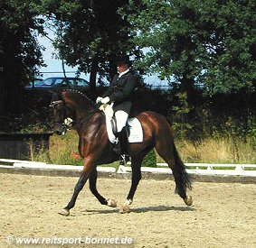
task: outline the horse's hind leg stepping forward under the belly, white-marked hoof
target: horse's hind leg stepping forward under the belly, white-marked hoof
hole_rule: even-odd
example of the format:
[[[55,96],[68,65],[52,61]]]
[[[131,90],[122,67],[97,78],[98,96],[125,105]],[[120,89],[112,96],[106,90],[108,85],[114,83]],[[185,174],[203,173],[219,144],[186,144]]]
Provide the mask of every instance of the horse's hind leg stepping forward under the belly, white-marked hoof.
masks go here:
[[[132,179],[131,179],[131,187],[128,192],[128,197],[125,203],[120,207],[120,214],[128,213],[129,212],[129,205],[132,204],[133,197],[135,195],[137,185],[141,179],[141,162],[147,152],[139,153],[137,156],[131,158],[131,169],[132,169]]]

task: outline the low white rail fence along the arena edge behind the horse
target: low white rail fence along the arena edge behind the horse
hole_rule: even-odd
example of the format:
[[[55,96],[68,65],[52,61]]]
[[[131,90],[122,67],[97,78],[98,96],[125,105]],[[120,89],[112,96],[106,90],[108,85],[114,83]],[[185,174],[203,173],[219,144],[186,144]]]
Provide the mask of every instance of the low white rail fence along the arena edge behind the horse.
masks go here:
[[[3,165],[1,165],[3,164]],[[97,170],[109,173],[130,173],[130,162],[127,166],[119,166],[116,170],[114,167],[98,166]],[[142,172],[148,173],[166,173],[172,174],[172,170],[167,167],[166,163],[156,163],[156,168],[142,167]],[[189,174],[196,175],[223,175],[223,176],[247,176],[256,177],[256,164],[209,164],[209,163],[185,163],[186,171]],[[0,159],[0,169],[8,168],[25,168],[38,170],[82,170],[83,166],[73,165],[56,165],[36,161],[18,161],[9,159]]]

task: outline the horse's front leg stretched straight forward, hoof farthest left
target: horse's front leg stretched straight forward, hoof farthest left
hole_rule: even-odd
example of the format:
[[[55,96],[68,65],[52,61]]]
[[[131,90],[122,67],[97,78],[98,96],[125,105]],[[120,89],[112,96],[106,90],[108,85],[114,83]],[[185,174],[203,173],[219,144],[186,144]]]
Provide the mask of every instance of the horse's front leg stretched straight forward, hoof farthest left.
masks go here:
[[[70,209],[75,206],[76,199],[77,199],[81,189],[85,185],[87,179],[90,177],[90,171],[91,170],[93,170],[93,165],[91,163],[85,163],[85,166],[84,166],[84,168],[81,172],[81,177],[78,180],[78,182],[77,182],[77,184],[74,188],[74,192],[73,192],[73,195],[71,197],[71,201],[69,202],[67,207],[64,207],[59,212],[60,215],[62,215],[62,216],[69,216],[70,215]]]

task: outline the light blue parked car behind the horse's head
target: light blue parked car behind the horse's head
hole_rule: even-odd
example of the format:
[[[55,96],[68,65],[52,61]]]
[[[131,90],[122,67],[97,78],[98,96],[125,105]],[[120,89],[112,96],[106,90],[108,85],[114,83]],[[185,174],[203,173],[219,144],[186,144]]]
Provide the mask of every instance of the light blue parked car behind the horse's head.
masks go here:
[[[42,82],[25,87],[27,89],[35,88],[42,90],[54,90],[54,89],[65,89],[73,88],[78,90],[89,89],[89,82],[83,78],[64,78],[64,77],[53,77],[46,78]]]

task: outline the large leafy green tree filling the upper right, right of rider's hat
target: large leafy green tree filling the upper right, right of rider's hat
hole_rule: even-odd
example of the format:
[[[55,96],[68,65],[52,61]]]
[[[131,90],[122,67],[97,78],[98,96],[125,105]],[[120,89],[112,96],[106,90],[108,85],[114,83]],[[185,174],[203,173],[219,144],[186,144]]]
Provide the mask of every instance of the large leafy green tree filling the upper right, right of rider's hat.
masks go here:
[[[256,80],[253,1],[130,1],[134,40],[147,48],[140,66],[178,84],[193,103],[194,86],[209,94],[252,90]]]

